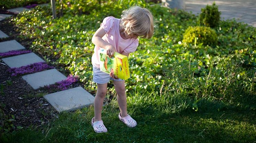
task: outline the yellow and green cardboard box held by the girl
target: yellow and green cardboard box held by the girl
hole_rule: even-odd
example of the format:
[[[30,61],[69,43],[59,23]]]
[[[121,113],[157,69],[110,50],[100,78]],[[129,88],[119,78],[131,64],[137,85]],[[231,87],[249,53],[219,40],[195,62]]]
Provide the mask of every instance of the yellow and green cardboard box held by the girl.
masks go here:
[[[109,58],[105,49],[98,51],[100,58],[100,69],[105,73],[113,72],[118,78],[127,80],[130,78],[128,57],[117,52]]]

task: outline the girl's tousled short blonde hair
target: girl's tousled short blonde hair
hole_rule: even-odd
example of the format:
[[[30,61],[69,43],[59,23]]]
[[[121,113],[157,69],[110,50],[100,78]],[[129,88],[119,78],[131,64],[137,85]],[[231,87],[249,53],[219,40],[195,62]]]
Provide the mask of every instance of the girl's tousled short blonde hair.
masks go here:
[[[123,11],[120,26],[123,26],[128,35],[136,34],[150,39],[154,33],[154,18],[148,9],[132,6]]]

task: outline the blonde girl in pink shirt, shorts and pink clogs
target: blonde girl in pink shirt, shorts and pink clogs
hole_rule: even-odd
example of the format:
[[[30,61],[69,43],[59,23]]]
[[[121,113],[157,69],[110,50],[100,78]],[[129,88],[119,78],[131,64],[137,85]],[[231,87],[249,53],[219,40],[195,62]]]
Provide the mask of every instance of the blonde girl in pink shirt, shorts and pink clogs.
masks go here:
[[[118,79],[113,73],[100,71],[98,50],[106,49],[107,55],[112,57],[114,52],[129,56],[138,47],[138,37],[151,38],[154,31],[154,21],[151,12],[139,6],[133,6],[123,11],[121,19],[106,17],[101,27],[94,33],[92,42],[95,44],[92,55],[93,81],[97,83],[97,93],[94,99],[94,117],[92,126],[95,132],[107,132],[101,120],[103,100],[107,93],[107,83],[113,80],[120,113],[119,119],[128,127],[135,127],[137,122],[127,114],[125,81]]]

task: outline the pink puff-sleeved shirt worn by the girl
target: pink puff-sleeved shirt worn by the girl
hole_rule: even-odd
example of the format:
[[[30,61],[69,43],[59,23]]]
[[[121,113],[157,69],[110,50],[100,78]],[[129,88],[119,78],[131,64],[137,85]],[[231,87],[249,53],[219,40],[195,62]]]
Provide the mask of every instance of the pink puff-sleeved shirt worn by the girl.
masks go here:
[[[139,41],[138,39],[129,38],[123,39],[119,32],[119,23],[120,19],[115,18],[113,16],[109,16],[103,19],[101,23],[101,27],[104,28],[106,34],[102,37],[102,39],[110,44],[112,44],[118,53],[132,53],[135,52]],[[99,58],[98,58],[98,50],[100,47],[95,45],[94,53],[92,55],[92,64],[98,68],[99,65]]]

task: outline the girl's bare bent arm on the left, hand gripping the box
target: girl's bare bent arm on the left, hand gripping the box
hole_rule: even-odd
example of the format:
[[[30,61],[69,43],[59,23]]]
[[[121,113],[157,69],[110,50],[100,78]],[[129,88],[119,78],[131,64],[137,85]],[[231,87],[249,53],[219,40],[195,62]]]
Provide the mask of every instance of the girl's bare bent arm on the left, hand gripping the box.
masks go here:
[[[94,45],[97,45],[101,48],[104,48],[107,50],[107,55],[112,57],[114,53],[116,52],[116,49],[113,45],[109,44],[108,42],[104,41],[102,37],[106,34],[105,30],[100,27],[92,37],[92,43]]]

